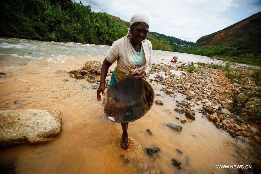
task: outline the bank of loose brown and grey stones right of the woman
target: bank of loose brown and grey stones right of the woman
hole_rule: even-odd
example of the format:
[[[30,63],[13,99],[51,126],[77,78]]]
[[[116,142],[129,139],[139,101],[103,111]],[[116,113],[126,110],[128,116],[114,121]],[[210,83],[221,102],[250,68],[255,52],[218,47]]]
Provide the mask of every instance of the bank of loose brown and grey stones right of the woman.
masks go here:
[[[151,73],[155,75],[155,79],[150,80],[164,85],[162,90],[172,97],[175,97],[176,93],[186,95],[186,99],[176,102],[188,117],[195,119],[193,107],[202,106],[196,112],[202,113],[202,117],[207,117],[217,128],[229,132],[237,139],[251,138],[260,142],[260,113],[254,112],[257,108],[253,108],[253,103],[260,104],[260,86],[257,86],[250,77],[241,81],[237,79],[231,84],[231,79],[225,77],[224,71],[213,68],[198,66],[197,72],[185,72],[189,66],[185,64],[175,67],[166,64],[153,66]],[[182,74],[174,75],[170,72],[171,70]],[[165,73],[162,74],[162,71]],[[242,113],[236,113],[232,106],[237,104],[235,102],[240,100],[240,97],[249,96],[249,93],[253,93],[253,96],[246,101]],[[238,100],[233,101],[233,98],[238,98]],[[251,107],[253,109],[249,109]],[[176,111],[181,113],[182,110]],[[257,128],[257,131],[253,131],[251,127]]]

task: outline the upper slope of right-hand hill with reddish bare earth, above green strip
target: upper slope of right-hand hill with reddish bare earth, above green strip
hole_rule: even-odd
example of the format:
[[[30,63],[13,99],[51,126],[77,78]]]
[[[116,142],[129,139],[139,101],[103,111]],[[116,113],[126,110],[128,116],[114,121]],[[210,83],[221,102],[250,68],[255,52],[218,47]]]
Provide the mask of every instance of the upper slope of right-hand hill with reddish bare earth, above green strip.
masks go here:
[[[261,12],[197,40],[195,46],[261,48]]]

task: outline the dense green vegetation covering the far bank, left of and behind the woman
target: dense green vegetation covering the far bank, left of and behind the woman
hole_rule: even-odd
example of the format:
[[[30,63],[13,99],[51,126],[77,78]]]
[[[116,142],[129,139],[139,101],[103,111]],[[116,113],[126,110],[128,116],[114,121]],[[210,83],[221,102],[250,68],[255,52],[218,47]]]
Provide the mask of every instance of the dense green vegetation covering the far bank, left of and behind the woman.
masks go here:
[[[2,6],[1,37],[111,45],[125,36],[130,26],[118,17],[92,12],[90,6],[71,0],[4,0]],[[150,32],[147,39],[155,50],[177,50],[167,37]],[[175,41],[184,46],[194,44]]]

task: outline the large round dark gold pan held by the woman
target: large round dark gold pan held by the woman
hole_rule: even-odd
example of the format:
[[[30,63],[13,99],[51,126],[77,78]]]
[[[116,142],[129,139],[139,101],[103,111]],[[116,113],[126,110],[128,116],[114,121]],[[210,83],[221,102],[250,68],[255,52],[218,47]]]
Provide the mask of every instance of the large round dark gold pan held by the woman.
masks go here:
[[[148,81],[128,77],[110,86],[105,93],[102,106],[109,119],[127,123],[143,117],[153,102],[154,90]]]

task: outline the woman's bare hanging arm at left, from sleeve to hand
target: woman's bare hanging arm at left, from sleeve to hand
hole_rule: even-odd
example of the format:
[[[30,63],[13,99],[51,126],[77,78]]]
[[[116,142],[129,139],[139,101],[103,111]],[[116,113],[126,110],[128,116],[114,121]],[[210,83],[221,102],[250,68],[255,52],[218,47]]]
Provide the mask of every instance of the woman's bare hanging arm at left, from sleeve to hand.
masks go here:
[[[109,67],[112,65],[112,63],[110,63],[107,59],[104,59],[103,63],[102,63],[102,70],[101,70],[101,81],[100,81],[100,85],[99,88],[97,90],[97,100],[101,101],[101,93],[104,96],[104,90],[105,90],[105,79],[108,73],[108,69]]]

